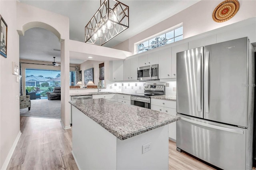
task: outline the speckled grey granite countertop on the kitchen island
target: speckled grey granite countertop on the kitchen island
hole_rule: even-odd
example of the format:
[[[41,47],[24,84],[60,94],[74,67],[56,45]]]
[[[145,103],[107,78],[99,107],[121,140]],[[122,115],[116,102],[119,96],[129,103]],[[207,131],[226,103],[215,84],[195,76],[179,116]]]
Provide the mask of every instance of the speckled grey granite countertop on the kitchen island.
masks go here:
[[[179,116],[106,99],[77,100],[69,103],[120,140],[180,120]]]

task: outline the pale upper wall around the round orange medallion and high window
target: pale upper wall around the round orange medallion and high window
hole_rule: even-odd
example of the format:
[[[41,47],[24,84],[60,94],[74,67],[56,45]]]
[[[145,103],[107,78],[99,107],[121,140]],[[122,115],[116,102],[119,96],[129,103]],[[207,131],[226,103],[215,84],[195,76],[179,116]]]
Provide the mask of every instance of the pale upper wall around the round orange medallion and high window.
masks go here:
[[[144,40],[154,34],[158,34],[159,32],[180,23],[183,23],[183,38],[185,39],[256,16],[255,0],[239,0],[240,8],[233,18],[222,23],[214,22],[214,20],[212,20],[212,12],[222,1],[223,0],[201,0],[178,14],[114,46],[113,48],[134,53],[134,43]]]

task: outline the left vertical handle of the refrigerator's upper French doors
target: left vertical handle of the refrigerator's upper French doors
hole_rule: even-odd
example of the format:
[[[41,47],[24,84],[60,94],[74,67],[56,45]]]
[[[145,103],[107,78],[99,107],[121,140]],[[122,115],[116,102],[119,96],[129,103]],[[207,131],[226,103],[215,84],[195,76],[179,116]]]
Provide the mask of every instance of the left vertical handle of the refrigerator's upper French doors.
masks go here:
[[[198,54],[197,59],[197,77],[196,77],[196,98],[197,98],[197,109],[201,112],[201,59],[202,53]]]

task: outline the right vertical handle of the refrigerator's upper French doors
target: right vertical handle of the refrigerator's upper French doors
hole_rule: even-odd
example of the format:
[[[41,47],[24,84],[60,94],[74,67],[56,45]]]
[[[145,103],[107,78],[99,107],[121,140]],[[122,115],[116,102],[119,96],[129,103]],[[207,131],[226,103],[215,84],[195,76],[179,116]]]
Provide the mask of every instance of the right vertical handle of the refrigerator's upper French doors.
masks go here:
[[[205,57],[204,90],[205,112],[209,113],[209,51],[206,52]]]

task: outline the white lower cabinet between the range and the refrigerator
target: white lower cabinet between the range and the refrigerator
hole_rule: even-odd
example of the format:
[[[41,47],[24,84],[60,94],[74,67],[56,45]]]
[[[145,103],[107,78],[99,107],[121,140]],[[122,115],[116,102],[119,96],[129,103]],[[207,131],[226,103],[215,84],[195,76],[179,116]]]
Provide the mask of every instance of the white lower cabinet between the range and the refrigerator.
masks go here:
[[[176,115],[176,101],[151,99],[151,109]],[[169,138],[176,141],[176,122],[169,124]]]

